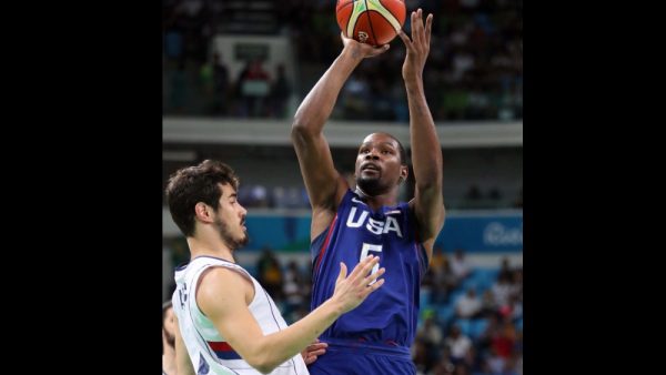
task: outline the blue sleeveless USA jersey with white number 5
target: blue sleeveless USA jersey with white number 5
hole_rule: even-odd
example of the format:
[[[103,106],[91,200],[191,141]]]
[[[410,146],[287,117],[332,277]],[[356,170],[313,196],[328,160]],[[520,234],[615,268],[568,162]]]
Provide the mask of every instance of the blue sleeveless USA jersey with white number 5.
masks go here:
[[[373,210],[349,190],[326,231],[311,244],[312,310],[333,295],[340,262],[351,272],[367,255],[386,268],[384,285],[321,335],[326,342],[389,346],[408,351],[416,333],[418,291],[427,268],[425,249],[416,239],[408,203]],[[408,353],[408,352],[406,352]],[[325,359],[322,355],[317,362]],[[325,362],[325,361],[322,361]]]

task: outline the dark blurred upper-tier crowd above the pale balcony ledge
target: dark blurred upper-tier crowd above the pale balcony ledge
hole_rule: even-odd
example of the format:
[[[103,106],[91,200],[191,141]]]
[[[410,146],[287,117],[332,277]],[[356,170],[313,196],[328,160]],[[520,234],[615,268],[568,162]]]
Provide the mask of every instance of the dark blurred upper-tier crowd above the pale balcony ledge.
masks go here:
[[[435,14],[424,81],[433,116],[512,121],[523,116],[522,0],[406,0],[407,10]],[[165,114],[284,119],[287,99],[300,101],[340,53],[335,1],[244,0],[263,9],[264,28],[231,28],[234,1],[163,0]],[[249,13],[249,12],[246,12]],[[249,19],[250,20],[250,19]],[[249,21],[249,26],[251,22]],[[404,26],[410,32],[408,17]],[[295,45],[295,81],[284,67],[271,77],[261,60],[231,77],[216,34],[279,34]],[[396,38],[389,52],[364,61],[346,82],[333,119],[407,121]],[[251,84],[249,84],[251,82]]]

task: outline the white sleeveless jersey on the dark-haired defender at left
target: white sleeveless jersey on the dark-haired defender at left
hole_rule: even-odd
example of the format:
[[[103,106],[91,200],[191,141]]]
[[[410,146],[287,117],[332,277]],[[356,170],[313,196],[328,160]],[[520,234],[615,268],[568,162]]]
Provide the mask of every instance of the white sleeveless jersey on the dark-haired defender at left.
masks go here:
[[[266,291],[248,271],[238,264],[213,257],[198,256],[183,267],[175,270],[175,292],[173,292],[173,312],[178,316],[183,342],[198,375],[243,374],[260,375],[225,342],[213,323],[199,310],[196,304],[196,284],[202,272],[212,266],[235,270],[252,281],[254,298],[248,306],[264,335],[286,328],[286,323]],[[296,354],[275,367],[271,375],[309,375],[307,367]]]

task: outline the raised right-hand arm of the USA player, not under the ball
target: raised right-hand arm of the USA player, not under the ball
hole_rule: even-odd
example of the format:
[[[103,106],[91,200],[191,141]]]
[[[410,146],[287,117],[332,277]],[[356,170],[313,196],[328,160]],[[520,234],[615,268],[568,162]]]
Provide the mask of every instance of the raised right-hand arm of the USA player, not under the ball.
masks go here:
[[[410,107],[410,134],[412,166],[416,189],[411,205],[418,222],[418,237],[428,260],[434,241],[444,225],[444,197],[442,196],[442,149],[423,89],[423,68],[430,53],[433,14],[423,22],[423,11],[411,13],[412,39],[401,30],[400,38],[407,53],[402,74]]]

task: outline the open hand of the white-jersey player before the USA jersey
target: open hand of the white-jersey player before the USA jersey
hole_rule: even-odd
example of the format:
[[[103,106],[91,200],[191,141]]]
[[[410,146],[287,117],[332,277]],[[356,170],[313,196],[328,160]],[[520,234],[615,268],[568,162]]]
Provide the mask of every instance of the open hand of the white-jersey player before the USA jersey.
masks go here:
[[[386,268],[382,267],[369,275],[372,267],[379,262],[379,256],[369,255],[356,264],[349,277],[346,277],[346,265],[340,263],[340,274],[335,281],[335,291],[331,298],[337,300],[343,313],[359,306],[370,293],[379,290],[384,284],[384,278],[377,280],[377,277],[383,275]]]

